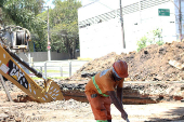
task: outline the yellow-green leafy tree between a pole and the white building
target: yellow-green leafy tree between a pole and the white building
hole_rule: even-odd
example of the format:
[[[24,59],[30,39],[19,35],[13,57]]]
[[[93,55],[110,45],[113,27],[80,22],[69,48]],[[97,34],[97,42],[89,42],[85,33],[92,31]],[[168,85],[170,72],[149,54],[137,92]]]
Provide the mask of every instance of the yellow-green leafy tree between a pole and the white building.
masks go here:
[[[77,0],[54,0],[55,8],[50,13],[52,51],[67,52],[75,58],[78,35],[78,9],[81,2]]]

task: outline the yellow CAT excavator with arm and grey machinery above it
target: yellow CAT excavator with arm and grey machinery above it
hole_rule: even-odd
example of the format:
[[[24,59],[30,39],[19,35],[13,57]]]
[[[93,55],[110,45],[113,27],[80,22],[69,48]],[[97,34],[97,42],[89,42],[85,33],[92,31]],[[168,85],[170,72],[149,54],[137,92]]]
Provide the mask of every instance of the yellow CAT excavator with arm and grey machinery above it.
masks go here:
[[[38,103],[63,100],[64,96],[56,82],[43,78],[42,73],[29,66],[18,55],[17,51],[28,50],[31,41],[28,29],[19,26],[0,27],[0,74],[18,89],[25,92],[31,99]],[[43,79],[44,86],[38,85],[26,71],[18,65],[22,64],[36,77]]]

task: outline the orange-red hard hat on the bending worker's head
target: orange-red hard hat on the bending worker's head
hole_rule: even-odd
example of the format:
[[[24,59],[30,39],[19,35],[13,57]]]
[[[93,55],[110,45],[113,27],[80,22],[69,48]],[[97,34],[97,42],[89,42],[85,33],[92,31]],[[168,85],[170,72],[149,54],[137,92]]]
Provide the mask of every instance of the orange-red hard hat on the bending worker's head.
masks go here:
[[[120,78],[127,78],[129,76],[128,74],[128,65],[126,62],[117,60],[113,64],[113,67]]]

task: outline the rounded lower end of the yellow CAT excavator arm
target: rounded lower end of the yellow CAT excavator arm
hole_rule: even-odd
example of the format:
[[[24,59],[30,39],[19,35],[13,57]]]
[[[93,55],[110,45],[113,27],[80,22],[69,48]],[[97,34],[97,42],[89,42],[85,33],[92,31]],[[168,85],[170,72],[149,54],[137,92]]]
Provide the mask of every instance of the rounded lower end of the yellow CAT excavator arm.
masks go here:
[[[48,79],[45,82],[45,92],[52,97],[53,100],[63,100],[64,96],[61,92],[58,84],[56,84],[53,80]]]

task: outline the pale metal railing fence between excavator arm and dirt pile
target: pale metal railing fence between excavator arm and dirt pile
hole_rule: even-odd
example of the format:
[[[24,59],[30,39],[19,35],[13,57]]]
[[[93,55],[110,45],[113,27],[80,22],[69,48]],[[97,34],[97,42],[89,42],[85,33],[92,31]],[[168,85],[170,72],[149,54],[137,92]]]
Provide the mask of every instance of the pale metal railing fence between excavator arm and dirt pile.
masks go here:
[[[51,62],[34,62],[30,64],[35,69],[48,77],[71,77],[88,60],[51,60]],[[30,76],[35,76],[29,72]]]

